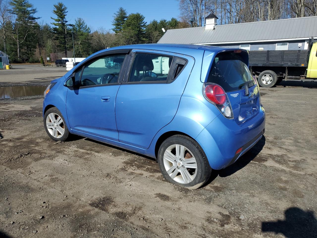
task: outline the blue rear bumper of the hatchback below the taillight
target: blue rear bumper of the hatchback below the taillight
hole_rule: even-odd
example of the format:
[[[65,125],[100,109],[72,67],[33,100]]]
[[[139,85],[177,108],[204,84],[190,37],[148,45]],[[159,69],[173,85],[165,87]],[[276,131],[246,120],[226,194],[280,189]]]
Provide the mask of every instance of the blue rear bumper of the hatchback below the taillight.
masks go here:
[[[265,112],[238,125],[223,115],[217,116],[195,139],[204,150],[212,169],[223,169],[236,162],[261,138],[265,130]],[[243,147],[236,154],[237,149]]]

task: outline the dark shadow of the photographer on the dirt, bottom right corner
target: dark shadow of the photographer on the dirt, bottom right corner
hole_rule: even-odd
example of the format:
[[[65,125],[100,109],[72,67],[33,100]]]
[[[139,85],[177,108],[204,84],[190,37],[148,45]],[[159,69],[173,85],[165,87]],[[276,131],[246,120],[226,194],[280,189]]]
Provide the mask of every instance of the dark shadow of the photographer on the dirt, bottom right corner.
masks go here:
[[[316,238],[317,220],[313,211],[288,208],[285,220],[262,222],[262,232],[274,232],[287,238]]]

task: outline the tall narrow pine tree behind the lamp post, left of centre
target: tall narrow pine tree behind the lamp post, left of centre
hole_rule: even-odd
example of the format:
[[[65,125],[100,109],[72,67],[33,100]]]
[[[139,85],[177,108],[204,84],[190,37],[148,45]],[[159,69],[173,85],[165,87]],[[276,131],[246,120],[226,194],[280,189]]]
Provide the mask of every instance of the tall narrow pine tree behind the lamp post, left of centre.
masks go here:
[[[55,22],[52,24],[55,26],[53,27],[53,31],[55,33],[55,38],[60,42],[62,47],[64,48],[65,57],[67,57],[67,36],[69,33],[69,26],[72,24],[67,24],[68,21],[66,20],[67,16],[67,7],[59,2],[54,4],[53,13],[56,15],[57,18],[51,17]]]

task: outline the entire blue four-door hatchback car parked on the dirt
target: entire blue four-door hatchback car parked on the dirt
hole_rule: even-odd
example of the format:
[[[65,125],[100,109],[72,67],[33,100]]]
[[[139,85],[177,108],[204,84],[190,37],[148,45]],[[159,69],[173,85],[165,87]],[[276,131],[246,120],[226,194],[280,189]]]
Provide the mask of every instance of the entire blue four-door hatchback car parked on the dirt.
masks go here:
[[[156,158],[169,182],[195,189],[265,129],[248,52],[143,44],[101,50],[44,92],[47,134],[75,134]]]

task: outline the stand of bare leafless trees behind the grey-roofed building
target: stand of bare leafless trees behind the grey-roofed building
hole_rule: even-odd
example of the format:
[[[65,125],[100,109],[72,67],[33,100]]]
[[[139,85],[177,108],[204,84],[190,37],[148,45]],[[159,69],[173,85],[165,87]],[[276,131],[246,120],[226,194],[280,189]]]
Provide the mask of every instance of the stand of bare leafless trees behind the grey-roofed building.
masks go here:
[[[182,22],[194,19],[193,26],[204,26],[211,12],[218,24],[317,16],[317,0],[178,0]]]

